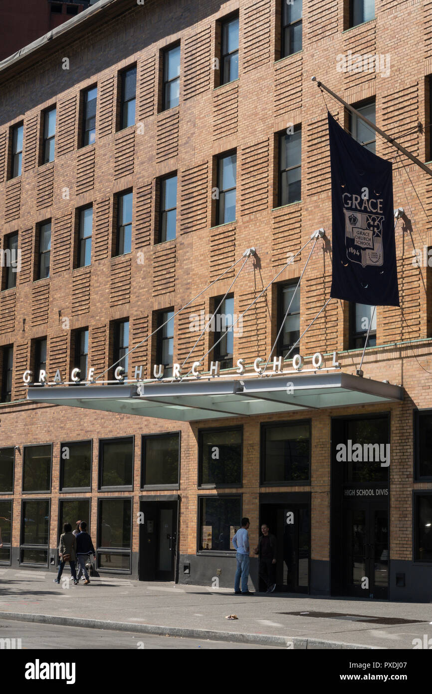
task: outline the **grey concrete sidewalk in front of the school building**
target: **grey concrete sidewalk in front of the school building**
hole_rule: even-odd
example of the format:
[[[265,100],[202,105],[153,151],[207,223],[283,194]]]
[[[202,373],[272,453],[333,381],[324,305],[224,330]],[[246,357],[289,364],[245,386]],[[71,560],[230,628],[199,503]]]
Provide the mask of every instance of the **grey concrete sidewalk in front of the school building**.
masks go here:
[[[227,589],[106,576],[88,586],[57,585],[53,577],[1,568],[0,618],[287,648],[412,649],[414,638],[432,638],[432,603],[282,593],[248,598]],[[239,619],[227,620],[229,614]]]

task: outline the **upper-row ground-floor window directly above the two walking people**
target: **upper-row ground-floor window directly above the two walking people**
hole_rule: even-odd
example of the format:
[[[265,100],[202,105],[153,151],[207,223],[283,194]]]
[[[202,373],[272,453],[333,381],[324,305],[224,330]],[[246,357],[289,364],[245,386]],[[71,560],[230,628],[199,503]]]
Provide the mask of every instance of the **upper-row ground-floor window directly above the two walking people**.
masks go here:
[[[67,441],[60,445],[60,491],[72,489],[92,489],[92,441]]]

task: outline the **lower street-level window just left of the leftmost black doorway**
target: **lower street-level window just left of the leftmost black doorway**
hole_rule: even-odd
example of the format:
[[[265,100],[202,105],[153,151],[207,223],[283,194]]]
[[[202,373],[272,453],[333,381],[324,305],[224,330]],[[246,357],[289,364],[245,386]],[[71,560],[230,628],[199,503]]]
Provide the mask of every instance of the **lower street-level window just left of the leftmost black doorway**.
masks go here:
[[[132,500],[98,500],[97,567],[130,571]]]

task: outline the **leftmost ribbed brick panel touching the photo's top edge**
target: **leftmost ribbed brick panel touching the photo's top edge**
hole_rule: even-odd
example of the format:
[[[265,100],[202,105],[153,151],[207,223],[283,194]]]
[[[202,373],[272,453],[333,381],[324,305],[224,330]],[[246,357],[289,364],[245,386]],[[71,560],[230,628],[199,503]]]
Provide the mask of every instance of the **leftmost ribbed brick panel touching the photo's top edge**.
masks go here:
[[[243,12],[243,72],[270,60],[270,0],[261,0]]]

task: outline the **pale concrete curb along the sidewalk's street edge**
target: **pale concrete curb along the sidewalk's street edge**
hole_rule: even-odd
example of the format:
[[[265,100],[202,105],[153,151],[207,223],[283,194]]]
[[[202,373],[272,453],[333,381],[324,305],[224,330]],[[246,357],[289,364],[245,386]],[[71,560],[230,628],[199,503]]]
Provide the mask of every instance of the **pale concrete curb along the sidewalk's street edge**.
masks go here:
[[[80,617],[62,617],[50,614],[27,614],[24,612],[0,612],[0,619],[19,622],[53,624],[63,627],[85,627],[87,629],[108,629],[114,632],[134,632],[153,634],[155,636],[177,636],[183,638],[202,638],[210,641],[233,641],[256,645],[281,646],[288,649],[367,649],[381,650],[379,646],[358,645],[336,641],[325,641],[320,638],[302,638],[301,636],[274,636],[273,634],[240,634],[238,632],[215,632],[210,629],[187,629],[184,627],[163,627],[153,624],[129,624],[128,622],[110,622]]]

